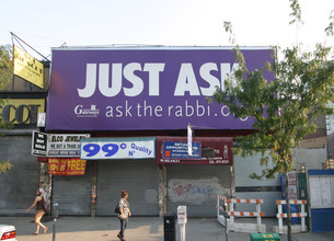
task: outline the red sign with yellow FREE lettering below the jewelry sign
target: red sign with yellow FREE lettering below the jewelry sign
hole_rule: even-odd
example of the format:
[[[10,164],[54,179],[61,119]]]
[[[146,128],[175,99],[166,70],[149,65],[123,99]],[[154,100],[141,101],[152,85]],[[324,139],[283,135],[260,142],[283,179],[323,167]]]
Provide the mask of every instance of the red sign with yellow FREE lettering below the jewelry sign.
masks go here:
[[[48,174],[53,175],[84,175],[85,160],[79,158],[49,158]]]

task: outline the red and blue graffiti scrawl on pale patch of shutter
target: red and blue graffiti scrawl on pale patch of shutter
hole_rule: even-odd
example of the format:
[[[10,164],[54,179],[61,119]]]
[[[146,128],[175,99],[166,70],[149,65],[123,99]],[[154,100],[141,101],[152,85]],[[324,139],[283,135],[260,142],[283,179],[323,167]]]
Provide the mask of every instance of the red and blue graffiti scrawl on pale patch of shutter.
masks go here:
[[[169,182],[168,196],[174,202],[201,204],[212,199],[216,193],[222,190],[218,180],[171,180]]]

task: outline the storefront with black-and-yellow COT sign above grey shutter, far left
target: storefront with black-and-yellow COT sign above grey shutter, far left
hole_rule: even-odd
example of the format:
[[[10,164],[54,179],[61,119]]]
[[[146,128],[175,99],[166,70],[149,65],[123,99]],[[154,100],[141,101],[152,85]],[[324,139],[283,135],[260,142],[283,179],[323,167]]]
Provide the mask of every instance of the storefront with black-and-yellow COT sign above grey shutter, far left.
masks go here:
[[[39,162],[31,156],[32,133],[37,113],[45,111],[45,93],[1,92],[0,116],[11,123],[12,129],[0,129],[0,162],[9,161],[12,168],[0,174],[0,215],[24,216],[35,199],[39,179]]]

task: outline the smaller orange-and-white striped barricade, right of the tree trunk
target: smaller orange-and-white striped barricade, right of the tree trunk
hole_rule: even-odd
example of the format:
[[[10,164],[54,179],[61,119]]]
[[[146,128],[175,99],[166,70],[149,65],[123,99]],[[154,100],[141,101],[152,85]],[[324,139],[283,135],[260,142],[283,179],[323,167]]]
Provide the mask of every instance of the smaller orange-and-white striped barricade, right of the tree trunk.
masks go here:
[[[293,200],[290,200],[289,203],[295,204],[295,205],[300,205],[300,213],[292,213],[292,214],[290,214],[290,217],[291,218],[301,218],[301,225],[291,226],[291,232],[297,233],[297,232],[308,231],[307,225],[306,225],[306,217],[308,216],[308,214],[306,213],[307,200],[293,199]],[[287,228],[287,226],[283,225],[283,219],[288,217],[287,214],[283,213],[283,205],[286,205],[287,202],[286,200],[276,200],[276,204],[278,205],[278,214],[277,214],[278,227],[274,226],[273,231],[277,232],[277,233],[287,233],[288,228]]]

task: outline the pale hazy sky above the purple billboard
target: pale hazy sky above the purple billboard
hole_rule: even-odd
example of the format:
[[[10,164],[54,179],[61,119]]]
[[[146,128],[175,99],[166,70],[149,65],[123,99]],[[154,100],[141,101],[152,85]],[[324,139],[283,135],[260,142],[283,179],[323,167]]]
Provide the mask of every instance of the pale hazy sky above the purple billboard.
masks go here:
[[[334,0],[299,2],[297,27],[289,25],[289,0],[2,0],[0,45],[12,44],[12,32],[49,59],[64,44],[231,46],[229,21],[240,46],[334,46],[324,33]]]

